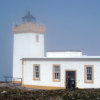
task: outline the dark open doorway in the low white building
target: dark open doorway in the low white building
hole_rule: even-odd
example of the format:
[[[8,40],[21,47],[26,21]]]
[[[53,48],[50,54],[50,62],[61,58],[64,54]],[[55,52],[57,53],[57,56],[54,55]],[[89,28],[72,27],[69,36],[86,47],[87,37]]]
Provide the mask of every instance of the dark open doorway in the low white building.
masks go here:
[[[65,83],[66,88],[76,87],[76,71],[65,71]]]

